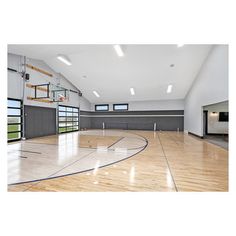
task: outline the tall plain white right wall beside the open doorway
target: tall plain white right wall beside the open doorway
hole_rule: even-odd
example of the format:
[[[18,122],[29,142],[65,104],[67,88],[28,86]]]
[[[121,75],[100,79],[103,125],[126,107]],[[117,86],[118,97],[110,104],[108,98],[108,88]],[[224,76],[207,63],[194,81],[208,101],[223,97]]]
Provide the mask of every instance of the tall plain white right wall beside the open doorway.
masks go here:
[[[184,129],[203,136],[203,106],[228,100],[228,46],[216,45],[185,98]]]

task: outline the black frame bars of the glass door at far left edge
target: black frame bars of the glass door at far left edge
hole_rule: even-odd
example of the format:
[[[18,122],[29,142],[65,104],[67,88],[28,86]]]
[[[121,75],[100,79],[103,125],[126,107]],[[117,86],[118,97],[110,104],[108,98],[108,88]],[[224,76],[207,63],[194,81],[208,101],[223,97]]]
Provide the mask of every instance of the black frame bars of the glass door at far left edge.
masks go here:
[[[22,131],[23,131],[23,124],[22,124],[22,117],[23,117],[23,110],[22,110],[22,107],[23,107],[23,102],[22,102],[22,100],[20,100],[20,99],[15,99],[15,98],[8,98],[7,100],[8,100],[8,101],[11,100],[11,101],[20,102],[20,107],[9,107],[9,106],[7,106],[7,109],[20,110],[20,115],[8,115],[8,114],[7,114],[7,129],[8,129],[8,126],[11,126],[11,125],[20,126],[20,130],[17,130],[17,131],[7,131],[7,134],[20,133],[20,137],[19,137],[19,138],[15,138],[15,139],[8,139],[8,137],[7,137],[7,141],[8,141],[8,142],[19,141],[19,140],[21,140],[21,138],[22,138]],[[11,117],[20,118],[20,123],[18,123],[18,122],[17,122],[17,123],[9,123],[9,122],[8,122],[8,118],[11,118]]]

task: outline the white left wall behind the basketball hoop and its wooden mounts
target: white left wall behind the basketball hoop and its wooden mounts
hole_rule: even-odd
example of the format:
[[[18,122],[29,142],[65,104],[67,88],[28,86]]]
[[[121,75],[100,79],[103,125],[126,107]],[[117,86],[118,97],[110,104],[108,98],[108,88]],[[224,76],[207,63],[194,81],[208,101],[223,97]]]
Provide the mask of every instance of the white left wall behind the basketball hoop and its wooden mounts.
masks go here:
[[[24,61],[23,61],[22,56],[8,54],[8,67],[21,71],[23,62]],[[34,85],[34,84],[43,84],[43,83],[48,83],[48,82],[51,82],[53,84],[59,83],[62,87],[65,87],[67,89],[72,89],[75,91],[77,90],[76,87],[73,86],[66,78],[56,73],[55,71],[53,71],[43,61],[27,58],[27,63],[33,66],[39,67],[53,74],[53,77],[49,77],[35,70],[27,68],[26,72],[30,74],[30,81],[29,81],[30,84]],[[23,99],[23,80],[21,76],[17,73],[8,71],[8,97],[9,98],[23,99],[25,105],[52,107],[52,108],[55,108],[57,106],[57,103],[50,104],[50,103],[28,100],[27,96],[34,97],[34,89],[26,87],[25,96]],[[91,107],[90,102],[86,98],[79,97],[78,94],[73,93],[73,92],[70,92],[68,102],[63,102],[60,104],[80,107],[81,110],[90,110],[90,107]]]

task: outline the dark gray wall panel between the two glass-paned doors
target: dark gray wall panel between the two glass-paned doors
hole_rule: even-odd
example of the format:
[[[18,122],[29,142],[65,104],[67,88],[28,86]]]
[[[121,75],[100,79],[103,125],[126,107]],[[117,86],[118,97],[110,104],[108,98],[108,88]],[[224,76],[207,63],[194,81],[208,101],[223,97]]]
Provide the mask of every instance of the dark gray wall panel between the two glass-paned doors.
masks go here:
[[[56,134],[56,109],[24,106],[26,138]]]

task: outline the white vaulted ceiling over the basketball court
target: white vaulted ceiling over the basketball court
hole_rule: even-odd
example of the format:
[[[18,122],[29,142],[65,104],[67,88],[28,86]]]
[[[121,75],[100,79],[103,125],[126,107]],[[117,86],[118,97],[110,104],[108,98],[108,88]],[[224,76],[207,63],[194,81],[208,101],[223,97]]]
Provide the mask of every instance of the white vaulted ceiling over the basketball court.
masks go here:
[[[92,103],[183,99],[211,45],[123,45],[118,57],[113,45],[9,45],[8,51],[45,61],[63,74]],[[67,66],[56,56],[65,54]],[[174,67],[170,67],[174,64]],[[83,79],[82,76],[87,78]],[[173,84],[167,94],[168,84]],[[135,89],[135,96],[130,94]],[[93,90],[100,94],[95,97]]]

